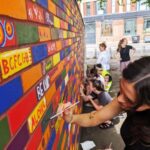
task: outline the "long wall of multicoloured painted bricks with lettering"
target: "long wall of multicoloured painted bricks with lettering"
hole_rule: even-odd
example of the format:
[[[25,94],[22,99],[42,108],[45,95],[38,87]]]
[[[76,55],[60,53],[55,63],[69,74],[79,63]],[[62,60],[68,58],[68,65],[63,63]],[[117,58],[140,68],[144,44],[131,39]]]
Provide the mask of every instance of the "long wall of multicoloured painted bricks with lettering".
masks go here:
[[[75,0],[0,0],[0,150],[78,149],[78,126],[47,119],[80,100],[83,30]]]

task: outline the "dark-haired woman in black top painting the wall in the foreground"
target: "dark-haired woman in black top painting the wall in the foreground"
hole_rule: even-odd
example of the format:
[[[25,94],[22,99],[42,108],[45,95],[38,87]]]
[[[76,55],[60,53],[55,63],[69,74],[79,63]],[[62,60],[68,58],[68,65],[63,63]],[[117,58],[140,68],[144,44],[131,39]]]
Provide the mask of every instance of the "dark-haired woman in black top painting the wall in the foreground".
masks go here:
[[[100,111],[75,115],[66,110],[64,119],[89,127],[126,111],[121,135],[125,150],[150,150],[150,56],[130,63],[120,80],[120,94]]]

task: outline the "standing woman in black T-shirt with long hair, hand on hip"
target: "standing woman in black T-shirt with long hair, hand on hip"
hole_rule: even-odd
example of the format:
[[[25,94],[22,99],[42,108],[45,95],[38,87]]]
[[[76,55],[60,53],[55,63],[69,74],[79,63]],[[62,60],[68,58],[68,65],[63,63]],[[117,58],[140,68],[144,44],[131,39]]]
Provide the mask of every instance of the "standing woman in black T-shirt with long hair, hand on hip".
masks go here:
[[[119,41],[117,52],[120,54],[120,71],[122,72],[130,63],[130,50],[135,52],[133,46],[127,45],[127,39],[123,38]]]

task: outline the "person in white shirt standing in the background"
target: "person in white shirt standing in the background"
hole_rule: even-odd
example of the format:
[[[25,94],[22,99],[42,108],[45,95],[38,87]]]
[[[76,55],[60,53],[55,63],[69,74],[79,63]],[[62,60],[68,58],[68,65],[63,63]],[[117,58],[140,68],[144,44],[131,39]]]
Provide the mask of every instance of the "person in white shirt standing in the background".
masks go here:
[[[96,64],[102,64],[104,70],[110,70],[110,53],[106,48],[107,46],[104,42],[99,44],[99,54]]]

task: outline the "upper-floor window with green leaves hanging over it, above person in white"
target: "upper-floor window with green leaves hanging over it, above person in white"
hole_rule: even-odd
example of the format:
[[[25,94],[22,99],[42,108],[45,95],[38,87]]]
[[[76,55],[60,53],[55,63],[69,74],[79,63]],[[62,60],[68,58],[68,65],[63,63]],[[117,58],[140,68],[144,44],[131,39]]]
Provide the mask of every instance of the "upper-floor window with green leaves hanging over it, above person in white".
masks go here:
[[[96,14],[97,15],[106,14],[106,2],[103,2],[101,8],[100,1],[96,1]]]

